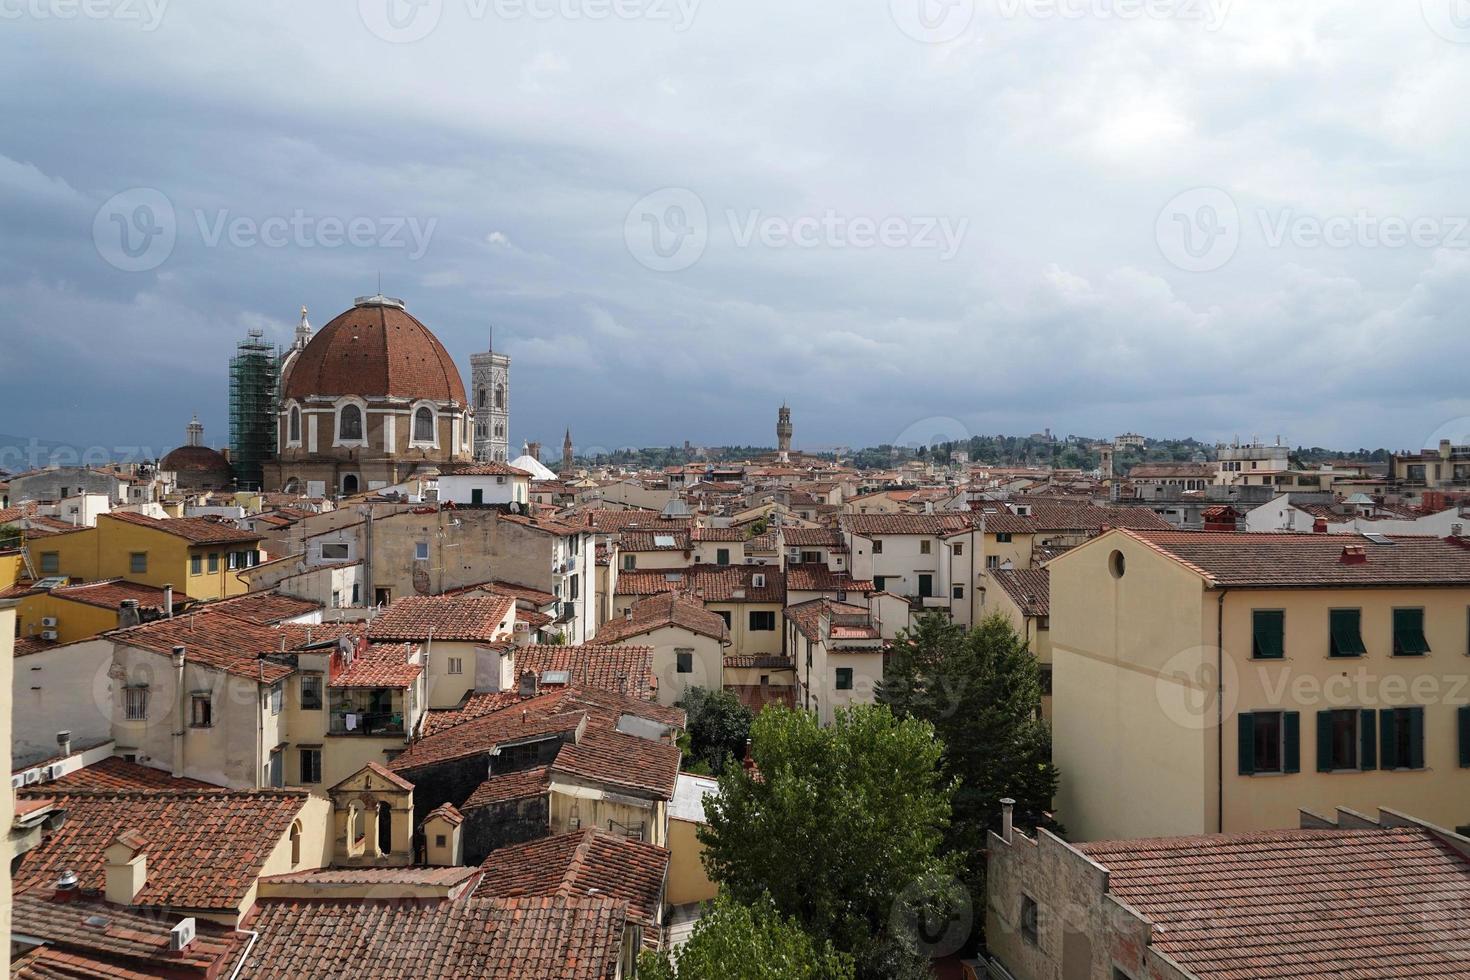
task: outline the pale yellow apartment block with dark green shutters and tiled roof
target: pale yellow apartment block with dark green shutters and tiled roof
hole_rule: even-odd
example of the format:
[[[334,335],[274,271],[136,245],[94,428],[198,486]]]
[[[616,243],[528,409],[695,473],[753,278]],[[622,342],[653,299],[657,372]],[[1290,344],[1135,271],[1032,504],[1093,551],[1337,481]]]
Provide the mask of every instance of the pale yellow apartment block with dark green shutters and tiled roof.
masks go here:
[[[1070,837],[1470,824],[1470,541],[1111,530],[1048,570]]]

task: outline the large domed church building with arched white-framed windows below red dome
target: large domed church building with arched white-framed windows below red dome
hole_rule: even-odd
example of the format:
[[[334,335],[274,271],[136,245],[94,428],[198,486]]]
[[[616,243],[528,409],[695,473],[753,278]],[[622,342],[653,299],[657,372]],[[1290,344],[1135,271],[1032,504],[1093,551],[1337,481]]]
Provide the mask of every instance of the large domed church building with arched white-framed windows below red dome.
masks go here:
[[[350,497],[431,476],[475,454],[475,411],[454,360],[403,300],[360,297],[312,335],[301,314],[281,367],[266,489]]]

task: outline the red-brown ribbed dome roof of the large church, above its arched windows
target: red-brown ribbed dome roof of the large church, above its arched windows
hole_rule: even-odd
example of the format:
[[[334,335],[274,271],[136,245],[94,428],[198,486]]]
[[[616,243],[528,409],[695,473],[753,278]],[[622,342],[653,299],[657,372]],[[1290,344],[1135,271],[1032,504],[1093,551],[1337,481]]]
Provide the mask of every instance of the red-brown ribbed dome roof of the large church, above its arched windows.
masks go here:
[[[465,382],[444,345],[401,300],[382,295],[357,300],[318,331],[291,364],[284,394],[466,404]]]

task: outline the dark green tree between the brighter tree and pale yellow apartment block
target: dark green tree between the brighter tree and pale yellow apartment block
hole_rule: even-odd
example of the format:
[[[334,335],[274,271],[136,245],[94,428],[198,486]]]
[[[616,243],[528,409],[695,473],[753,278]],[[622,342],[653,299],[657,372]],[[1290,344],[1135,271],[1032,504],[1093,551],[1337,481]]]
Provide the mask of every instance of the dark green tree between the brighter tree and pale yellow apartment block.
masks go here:
[[[944,774],[958,783],[945,848],[964,861],[966,887],[983,907],[986,832],[1000,830],[1000,801],[1016,801],[1020,827],[1060,830],[1048,814],[1057,767],[1036,658],[1000,614],[972,630],[926,616],[894,641],[878,701],[938,733]]]

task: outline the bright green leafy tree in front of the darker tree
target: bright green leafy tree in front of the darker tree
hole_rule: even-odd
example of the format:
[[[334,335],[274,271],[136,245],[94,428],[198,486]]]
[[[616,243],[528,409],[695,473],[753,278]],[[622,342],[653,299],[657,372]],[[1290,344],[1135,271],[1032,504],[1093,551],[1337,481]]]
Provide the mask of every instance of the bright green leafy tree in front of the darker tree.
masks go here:
[[[817,940],[851,954],[861,977],[926,976],[904,923],[920,883],[945,879],[939,854],[954,788],[933,727],[881,705],[766,708],[751,729],[756,773],[729,767],[700,830],[710,877],[739,902],[767,895]]]

